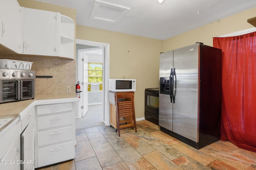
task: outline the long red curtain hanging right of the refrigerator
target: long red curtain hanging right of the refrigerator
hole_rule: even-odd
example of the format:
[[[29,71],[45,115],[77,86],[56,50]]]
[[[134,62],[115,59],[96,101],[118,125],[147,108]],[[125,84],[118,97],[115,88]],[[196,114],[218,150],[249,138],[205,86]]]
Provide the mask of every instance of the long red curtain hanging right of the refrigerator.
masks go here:
[[[220,139],[256,152],[256,32],[214,37],[222,49]]]

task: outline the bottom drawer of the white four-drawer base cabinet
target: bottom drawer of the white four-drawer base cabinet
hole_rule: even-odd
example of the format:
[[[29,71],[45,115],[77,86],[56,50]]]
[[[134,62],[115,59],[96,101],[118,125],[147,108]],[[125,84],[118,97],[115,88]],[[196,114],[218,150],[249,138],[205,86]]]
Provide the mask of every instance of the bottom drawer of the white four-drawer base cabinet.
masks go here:
[[[75,158],[74,142],[38,149],[38,167]]]

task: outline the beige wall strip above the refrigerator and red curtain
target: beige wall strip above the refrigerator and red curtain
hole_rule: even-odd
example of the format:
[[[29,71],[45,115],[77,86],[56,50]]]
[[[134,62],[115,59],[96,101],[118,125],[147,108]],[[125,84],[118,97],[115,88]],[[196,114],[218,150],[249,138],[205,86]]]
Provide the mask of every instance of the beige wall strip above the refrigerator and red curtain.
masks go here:
[[[229,16],[218,21],[214,21],[197,29],[193,29],[167,39],[163,43],[163,51],[170,51],[180,47],[202,42],[205,45],[212,46],[212,37],[241,31],[252,28],[247,19],[256,16],[256,7],[244,12]]]

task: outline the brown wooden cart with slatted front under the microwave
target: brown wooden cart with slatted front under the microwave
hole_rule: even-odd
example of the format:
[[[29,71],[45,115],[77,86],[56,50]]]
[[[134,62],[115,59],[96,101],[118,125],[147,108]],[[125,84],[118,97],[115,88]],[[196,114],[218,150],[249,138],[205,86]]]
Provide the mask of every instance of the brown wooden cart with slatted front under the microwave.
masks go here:
[[[109,92],[110,103],[110,126],[118,131],[128,127],[136,127],[136,117],[134,109],[134,92]]]

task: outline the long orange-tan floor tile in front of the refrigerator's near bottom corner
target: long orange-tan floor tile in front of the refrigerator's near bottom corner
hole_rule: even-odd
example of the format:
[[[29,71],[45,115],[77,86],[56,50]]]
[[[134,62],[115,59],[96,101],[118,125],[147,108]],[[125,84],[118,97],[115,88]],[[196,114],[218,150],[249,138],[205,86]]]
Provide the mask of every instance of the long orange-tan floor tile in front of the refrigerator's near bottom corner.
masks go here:
[[[208,154],[198,149],[190,147],[185,143],[178,143],[176,145],[172,145],[172,147],[188,155],[190,158],[193,158],[194,160],[200,162],[204,166],[215,160],[215,158],[213,158],[212,156],[209,156]]]

